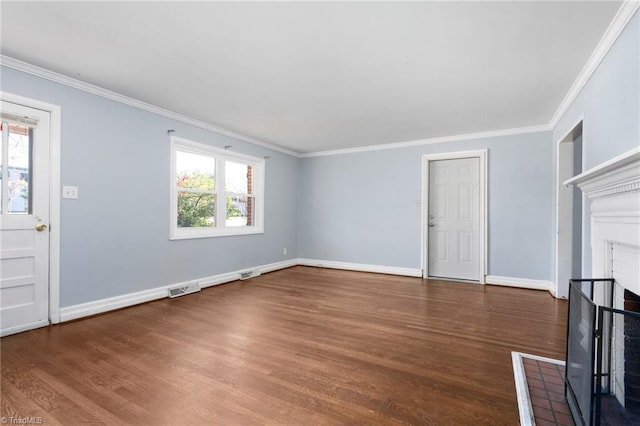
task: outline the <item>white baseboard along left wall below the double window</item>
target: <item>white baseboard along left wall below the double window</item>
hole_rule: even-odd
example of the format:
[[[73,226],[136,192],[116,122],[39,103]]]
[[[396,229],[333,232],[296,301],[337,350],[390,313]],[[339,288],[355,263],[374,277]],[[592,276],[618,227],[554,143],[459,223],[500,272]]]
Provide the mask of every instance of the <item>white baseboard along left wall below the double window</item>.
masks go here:
[[[135,293],[123,294],[122,296],[109,297],[107,299],[95,300],[93,302],[81,303],[79,305],[67,306],[60,309],[60,320],[71,321],[74,319],[101,314],[115,309],[126,308],[128,306],[138,305],[140,303],[150,302],[152,300],[162,299],[169,296],[169,288],[177,286],[185,286],[188,284],[198,283],[200,287],[206,288],[214,285],[224,284],[240,279],[240,274],[245,271],[259,269],[261,273],[276,271],[278,269],[288,268],[297,265],[297,259],[285,260],[282,262],[270,263],[258,266],[257,268],[243,269],[240,271],[228,272],[225,274],[212,275],[210,277],[199,278],[196,280],[185,281],[181,283],[173,283],[162,287],[156,287],[149,290],[138,291]]]

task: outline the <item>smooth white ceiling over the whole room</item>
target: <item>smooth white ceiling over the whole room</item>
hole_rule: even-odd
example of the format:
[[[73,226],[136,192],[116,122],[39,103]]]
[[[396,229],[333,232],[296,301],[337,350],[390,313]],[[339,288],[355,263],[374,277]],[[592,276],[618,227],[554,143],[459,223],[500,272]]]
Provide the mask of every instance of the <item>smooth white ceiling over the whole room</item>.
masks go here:
[[[620,2],[1,2],[1,53],[297,152],[547,124]]]

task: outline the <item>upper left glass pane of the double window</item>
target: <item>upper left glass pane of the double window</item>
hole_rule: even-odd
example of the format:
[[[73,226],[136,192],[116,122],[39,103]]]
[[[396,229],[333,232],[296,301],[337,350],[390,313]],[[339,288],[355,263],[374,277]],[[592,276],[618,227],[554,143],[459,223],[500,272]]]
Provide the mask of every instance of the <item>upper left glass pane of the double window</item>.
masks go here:
[[[214,190],[215,177],[215,158],[190,152],[176,152],[176,185],[178,187]]]

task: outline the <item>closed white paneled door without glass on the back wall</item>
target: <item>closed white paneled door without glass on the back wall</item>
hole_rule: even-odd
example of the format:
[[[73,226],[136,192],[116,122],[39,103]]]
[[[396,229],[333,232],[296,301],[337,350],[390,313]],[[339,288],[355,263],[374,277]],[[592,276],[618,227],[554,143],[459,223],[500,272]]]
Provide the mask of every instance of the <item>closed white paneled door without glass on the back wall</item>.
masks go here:
[[[480,158],[429,161],[428,271],[481,281]]]

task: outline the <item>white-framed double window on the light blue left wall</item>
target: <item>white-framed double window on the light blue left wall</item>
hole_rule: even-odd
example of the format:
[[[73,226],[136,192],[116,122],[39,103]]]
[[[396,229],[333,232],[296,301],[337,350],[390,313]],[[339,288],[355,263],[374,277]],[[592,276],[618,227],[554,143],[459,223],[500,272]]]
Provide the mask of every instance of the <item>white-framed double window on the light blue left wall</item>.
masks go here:
[[[171,235],[264,232],[264,160],[171,137]]]

